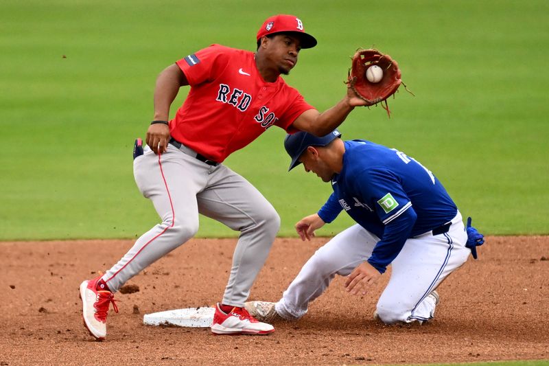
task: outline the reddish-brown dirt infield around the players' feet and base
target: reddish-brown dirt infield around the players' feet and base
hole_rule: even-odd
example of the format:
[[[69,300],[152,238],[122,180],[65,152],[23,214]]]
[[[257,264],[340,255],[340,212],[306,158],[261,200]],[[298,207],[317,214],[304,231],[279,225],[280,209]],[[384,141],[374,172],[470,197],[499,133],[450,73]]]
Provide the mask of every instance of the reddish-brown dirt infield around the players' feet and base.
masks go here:
[[[276,301],[327,241],[278,239],[250,299]],[[372,319],[377,297],[353,297],[336,278],[309,313],[274,323],[269,336],[213,336],[209,329],[143,325],[143,314],[211,306],[222,297],[235,240],[191,240],[117,294],[108,336],[82,326],[78,286],[111,266],[130,241],[1,242],[1,365],[329,364],[467,362],[549,358],[549,237],[489,237],[439,288],[426,325],[385,326]]]

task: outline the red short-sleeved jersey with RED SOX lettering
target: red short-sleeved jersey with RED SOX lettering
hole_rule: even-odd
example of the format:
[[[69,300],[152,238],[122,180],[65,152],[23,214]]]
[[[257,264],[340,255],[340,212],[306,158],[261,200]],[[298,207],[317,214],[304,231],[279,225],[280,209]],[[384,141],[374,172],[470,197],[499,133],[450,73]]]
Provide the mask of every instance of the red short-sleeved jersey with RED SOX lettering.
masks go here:
[[[170,134],[219,163],[272,125],[294,132],[294,120],[314,108],[280,76],[265,82],[253,52],[211,45],[176,63],[191,90]]]

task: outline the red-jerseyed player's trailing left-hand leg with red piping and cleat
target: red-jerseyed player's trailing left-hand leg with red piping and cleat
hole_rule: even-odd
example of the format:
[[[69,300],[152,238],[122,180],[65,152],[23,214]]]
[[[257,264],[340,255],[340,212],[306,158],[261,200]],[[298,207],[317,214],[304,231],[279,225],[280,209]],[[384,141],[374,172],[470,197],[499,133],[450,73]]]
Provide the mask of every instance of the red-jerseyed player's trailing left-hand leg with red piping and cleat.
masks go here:
[[[169,146],[160,157],[145,148],[134,161],[135,180],[150,198],[162,223],[155,225],[102,277],[80,285],[84,324],[97,339],[106,336],[106,317],[113,293],[143,268],[194,236],[198,229],[196,192],[205,184],[202,163]]]

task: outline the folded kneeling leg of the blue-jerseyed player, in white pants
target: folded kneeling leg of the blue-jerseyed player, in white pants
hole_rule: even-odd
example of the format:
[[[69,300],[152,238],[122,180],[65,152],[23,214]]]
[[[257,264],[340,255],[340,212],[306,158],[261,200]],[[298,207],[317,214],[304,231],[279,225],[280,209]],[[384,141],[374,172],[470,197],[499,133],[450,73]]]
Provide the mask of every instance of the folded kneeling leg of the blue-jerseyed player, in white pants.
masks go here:
[[[436,301],[429,295],[465,263],[470,253],[465,242],[467,233],[459,213],[447,233],[408,239],[377,302],[379,319],[388,324],[432,319]]]

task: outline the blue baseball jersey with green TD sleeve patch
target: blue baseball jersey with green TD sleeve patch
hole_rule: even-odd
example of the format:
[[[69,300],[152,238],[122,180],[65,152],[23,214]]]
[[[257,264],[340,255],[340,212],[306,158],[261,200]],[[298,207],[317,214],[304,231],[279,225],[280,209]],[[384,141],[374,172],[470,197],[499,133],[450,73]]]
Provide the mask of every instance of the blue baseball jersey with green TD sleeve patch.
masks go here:
[[[381,240],[368,262],[380,272],[408,238],[450,222],[457,207],[441,182],[404,152],[370,141],[344,141],[343,168],[318,215],[333,221],[343,209]]]

